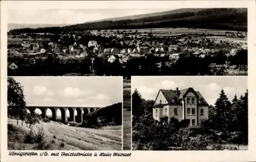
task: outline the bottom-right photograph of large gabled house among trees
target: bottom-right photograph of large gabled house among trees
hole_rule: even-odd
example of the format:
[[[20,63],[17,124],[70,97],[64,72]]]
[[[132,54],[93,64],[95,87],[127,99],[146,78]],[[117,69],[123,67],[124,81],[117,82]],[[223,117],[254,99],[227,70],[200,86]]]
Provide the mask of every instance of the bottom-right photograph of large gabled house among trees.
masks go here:
[[[247,150],[247,77],[132,77],[132,149]]]

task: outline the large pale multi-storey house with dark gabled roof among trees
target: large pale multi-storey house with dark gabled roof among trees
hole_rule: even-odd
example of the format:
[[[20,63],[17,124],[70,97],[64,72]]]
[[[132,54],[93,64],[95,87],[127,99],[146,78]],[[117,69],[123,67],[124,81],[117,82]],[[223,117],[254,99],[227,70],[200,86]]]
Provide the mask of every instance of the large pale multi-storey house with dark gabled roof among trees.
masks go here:
[[[208,119],[209,105],[199,91],[194,88],[179,90],[160,89],[153,107],[153,118],[174,117],[179,121],[188,119],[190,126],[199,126],[201,120]]]

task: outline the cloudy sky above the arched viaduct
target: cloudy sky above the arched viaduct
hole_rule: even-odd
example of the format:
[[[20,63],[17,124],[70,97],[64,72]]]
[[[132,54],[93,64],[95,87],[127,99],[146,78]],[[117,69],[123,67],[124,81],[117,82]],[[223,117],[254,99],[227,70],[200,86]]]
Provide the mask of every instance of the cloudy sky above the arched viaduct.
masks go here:
[[[105,107],[122,102],[122,77],[13,78],[23,85],[27,106]]]

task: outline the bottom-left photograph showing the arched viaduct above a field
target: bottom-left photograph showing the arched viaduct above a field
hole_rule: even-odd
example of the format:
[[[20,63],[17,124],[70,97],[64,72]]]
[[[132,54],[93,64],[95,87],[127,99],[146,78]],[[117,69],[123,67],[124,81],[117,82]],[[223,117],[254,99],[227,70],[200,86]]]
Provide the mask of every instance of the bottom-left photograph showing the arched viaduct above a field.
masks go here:
[[[8,150],[122,150],[122,77],[8,77]]]

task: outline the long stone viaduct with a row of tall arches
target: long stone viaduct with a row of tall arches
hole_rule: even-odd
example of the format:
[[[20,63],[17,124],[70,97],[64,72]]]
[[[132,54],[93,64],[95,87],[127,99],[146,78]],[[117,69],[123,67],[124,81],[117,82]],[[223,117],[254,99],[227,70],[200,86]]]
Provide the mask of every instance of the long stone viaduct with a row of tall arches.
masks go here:
[[[67,110],[69,111],[69,120],[72,122],[81,123],[86,114],[96,111],[99,107],[45,107],[45,106],[27,106],[30,112],[34,112],[36,108],[40,109],[42,112],[42,118],[46,117],[46,111],[50,109],[52,111],[52,120],[57,121],[57,110],[61,112],[61,122],[67,122]],[[75,111],[77,112],[77,118],[75,118]]]

